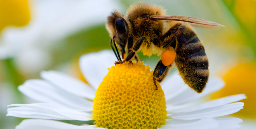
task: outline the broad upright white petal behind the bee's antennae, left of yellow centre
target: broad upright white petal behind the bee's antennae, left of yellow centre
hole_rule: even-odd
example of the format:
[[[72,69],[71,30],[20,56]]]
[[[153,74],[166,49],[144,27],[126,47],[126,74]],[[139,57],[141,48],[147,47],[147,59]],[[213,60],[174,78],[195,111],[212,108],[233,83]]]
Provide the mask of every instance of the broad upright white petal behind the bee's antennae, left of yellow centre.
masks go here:
[[[116,60],[112,50],[102,50],[81,56],[79,65],[85,79],[96,90],[107,75],[107,68],[113,66]]]

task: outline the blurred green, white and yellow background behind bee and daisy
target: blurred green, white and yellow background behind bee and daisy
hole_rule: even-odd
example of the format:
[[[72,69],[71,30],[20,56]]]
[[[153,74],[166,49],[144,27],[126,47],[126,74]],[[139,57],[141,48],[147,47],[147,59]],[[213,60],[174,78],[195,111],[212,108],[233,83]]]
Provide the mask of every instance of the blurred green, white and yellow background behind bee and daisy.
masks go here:
[[[82,54],[110,49],[105,20],[111,10],[126,13],[137,0],[0,0],[0,128],[11,129],[22,119],[6,117],[7,105],[31,103],[17,86],[40,79],[42,70],[59,70],[84,81]],[[195,28],[209,58],[211,76],[226,86],[209,96],[216,99],[246,94],[244,109],[235,113],[242,128],[256,126],[256,0],[149,0],[167,14],[202,18],[225,25]],[[152,69],[159,57],[140,59]],[[103,62],[104,63],[104,62]],[[173,68],[170,72],[176,72]],[[68,121],[83,124],[78,121]]]

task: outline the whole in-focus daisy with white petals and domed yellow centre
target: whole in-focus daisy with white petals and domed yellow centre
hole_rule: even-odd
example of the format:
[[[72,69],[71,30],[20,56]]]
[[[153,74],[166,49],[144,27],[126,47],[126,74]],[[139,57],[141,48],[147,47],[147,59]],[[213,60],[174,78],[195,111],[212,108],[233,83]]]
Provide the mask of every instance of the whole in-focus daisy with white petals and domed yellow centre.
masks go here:
[[[115,58],[109,50],[83,55],[80,68],[89,84],[61,72],[41,72],[43,80],[27,80],[18,87],[38,103],[11,104],[7,116],[33,118],[25,119],[16,129],[240,127],[241,119],[220,116],[242,109],[244,103],[236,101],[245,99],[245,95],[202,101],[204,96],[220,90],[223,80],[210,78],[204,91],[197,94],[174,74],[154,90],[149,66],[143,62],[112,66]],[[95,125],[78,126],[55,120],[94,120]]]

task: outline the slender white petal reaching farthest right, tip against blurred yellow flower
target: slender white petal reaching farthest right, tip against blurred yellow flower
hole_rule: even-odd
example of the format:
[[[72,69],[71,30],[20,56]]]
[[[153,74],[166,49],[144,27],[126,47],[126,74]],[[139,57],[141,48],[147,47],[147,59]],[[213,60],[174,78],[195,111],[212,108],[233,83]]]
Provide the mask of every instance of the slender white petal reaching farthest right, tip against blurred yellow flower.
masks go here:
[[[204,103],[197,104],[197,105],[194,105],[194,106],[188,106],[188,107],[185,107],[185,108],[170,110],[168,112],[177,113],[177,112],[198,111],[198,110],[202,110],[202,109],[208,109],[208,108],[212,108],[212,107],[222,106],[222,105],[229,104],[229,103],[232,103],[232,102],[237,102],[237,101],[240,101],[242,99],[246,99],[246,96],[244,94],[231,95],[231,96],[228,96],[228,97],[215,99],[215,100],[204,102]]]

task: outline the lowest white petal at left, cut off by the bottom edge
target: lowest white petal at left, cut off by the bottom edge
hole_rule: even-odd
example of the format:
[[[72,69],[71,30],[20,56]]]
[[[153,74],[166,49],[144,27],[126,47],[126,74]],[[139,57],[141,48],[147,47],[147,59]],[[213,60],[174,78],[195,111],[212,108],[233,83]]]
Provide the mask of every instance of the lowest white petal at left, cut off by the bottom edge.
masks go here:
[[[60,121],[26,119],[23,120],[15,129],[96,129],[96,125],[76,126]],[[104,129],[104,128],[99,128]]]

